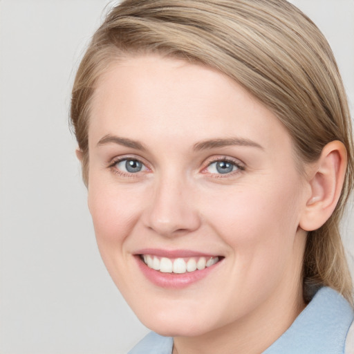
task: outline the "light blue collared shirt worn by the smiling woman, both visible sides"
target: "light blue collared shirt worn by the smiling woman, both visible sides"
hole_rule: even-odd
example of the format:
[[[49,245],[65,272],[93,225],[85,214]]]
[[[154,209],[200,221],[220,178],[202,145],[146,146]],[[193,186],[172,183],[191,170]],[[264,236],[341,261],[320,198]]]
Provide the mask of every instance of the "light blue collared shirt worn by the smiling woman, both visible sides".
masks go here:
[[[344,354],[354,318],[348,301],[331,288],[321,288],[310,304],[263,354]],[[171,354],[174,339],[149,333],[128,354]]]

